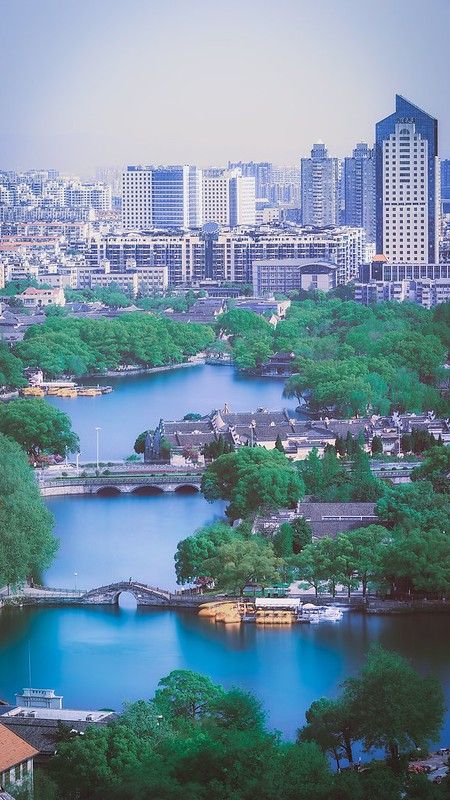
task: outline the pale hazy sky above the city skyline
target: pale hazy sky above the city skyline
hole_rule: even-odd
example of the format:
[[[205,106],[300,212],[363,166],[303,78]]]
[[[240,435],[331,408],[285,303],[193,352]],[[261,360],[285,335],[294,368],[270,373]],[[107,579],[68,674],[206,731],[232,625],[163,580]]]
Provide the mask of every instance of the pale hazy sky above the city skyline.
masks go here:
[[[0,169],[296,164],[404,94],[450,156],[450,0],[0,0]]]

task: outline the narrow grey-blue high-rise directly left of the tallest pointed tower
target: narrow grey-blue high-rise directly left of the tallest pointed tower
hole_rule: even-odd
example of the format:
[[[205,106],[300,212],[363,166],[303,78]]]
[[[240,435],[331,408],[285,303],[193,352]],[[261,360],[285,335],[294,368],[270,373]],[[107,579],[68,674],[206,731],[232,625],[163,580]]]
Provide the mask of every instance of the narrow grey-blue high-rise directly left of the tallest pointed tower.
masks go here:
[[[375,242],[375,154],[365,142],[344,162],[344,222],[364,228],[366,241]]]

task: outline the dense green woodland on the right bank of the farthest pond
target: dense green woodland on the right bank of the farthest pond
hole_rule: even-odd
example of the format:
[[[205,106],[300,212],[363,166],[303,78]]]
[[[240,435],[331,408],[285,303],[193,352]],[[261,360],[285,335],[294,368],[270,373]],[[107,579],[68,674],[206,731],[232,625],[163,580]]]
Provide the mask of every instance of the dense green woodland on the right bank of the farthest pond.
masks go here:
[[[438,391],[449,343],[445,307],[410,303],[361,306],[337,297],[293,302],[274,329],[249,311],[233,309],[220,321],[234,360],[254,369],[274,352],[296,355],[297,373],[286,397],[313,412],[342,416],[392,410],[445,411]]]

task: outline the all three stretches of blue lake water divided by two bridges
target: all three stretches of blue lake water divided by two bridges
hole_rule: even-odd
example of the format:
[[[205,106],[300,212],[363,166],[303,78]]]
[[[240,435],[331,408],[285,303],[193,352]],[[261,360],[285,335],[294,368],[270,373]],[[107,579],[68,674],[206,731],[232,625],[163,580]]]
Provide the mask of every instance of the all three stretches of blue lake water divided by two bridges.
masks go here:
[[[52,400],[68,411],[80,434],[83,458],[127,455],[136,435],[160,416],[180,418],[227,402],[234,410],[280,408],[282,381],[237,376],[227,367],[193,367],[109,381],[100,398]],[[200,495],[71,497],[48,501],[60,549],[47,585],[92,588],[135,579],[173,588],[177,542],[223,513]],[[75,578],[75,573],[77,573]],[[125,598],[126,599],[126,598]],[[12,701],[32,683],[54,688],[66,706],[120,709],[123,700],[150,697],[173,669],[208,674],[225,686],[251,689],[263,700],[269,724],[294,736],[305,710],[360,667],[371,642],[397,650],[424,674],[443,682],[450,706],[448,617],[364,617],[338,624],[286,629],[216,625],[192,612],[120,608],[22,608],[0,612],[0,698]],[[442,734],[450,743],[450,721]]]

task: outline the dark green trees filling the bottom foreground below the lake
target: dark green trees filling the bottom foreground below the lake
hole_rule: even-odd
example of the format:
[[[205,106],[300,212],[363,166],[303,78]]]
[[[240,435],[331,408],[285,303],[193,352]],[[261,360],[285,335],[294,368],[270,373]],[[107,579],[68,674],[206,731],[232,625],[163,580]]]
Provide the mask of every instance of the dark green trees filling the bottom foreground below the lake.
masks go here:
[[[62,729],[36,800],[444,800],[448,784],[412,778],[398,759],[426,745],[442,715],[438,682],[381,649],[340,698],[313,703],[295,743],[267,730],[252,694],[176,670],[109,725]],[[351,760],[355,741],[391,760],[333,773],[328,754]]]

